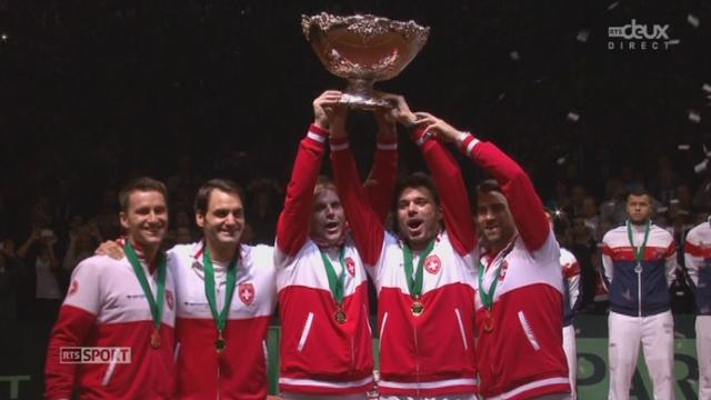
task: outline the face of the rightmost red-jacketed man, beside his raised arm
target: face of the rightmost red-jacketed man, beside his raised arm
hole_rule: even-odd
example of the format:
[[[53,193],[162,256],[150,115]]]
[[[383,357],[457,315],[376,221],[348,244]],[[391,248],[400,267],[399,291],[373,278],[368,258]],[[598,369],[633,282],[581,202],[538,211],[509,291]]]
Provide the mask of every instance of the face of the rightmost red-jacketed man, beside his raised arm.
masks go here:
[[[497,191],[479,193],[477,224],[487,243],[493,248],[501,248],[511,240],[515,224],[503,194]]]

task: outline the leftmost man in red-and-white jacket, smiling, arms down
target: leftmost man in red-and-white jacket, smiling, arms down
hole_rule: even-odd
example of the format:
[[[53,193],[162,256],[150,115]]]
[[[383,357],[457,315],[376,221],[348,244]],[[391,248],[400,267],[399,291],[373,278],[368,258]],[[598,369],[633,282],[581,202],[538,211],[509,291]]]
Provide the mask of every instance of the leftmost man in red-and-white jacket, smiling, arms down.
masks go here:
[[[173,398],[174,286],[159,250],[168,229],[166,187],[139,178],[119,199],[128,258],[94,256],[74,269],[50,339],[47,399]],[[78,348],[114,352],[94,363]]]

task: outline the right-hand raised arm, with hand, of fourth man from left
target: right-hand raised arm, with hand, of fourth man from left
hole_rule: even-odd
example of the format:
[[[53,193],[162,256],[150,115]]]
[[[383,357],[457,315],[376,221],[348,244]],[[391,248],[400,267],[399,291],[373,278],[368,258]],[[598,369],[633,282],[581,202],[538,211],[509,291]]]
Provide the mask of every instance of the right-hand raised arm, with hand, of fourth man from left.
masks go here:
[[[477,247],[477,230],[469,194],[457,161],[430,132],[434,117],[412,113],[401,96],[388,98],[395,104],[398,122],[414,127],[412,140],[420,147],[440,193],[444,226],[454,249],[460,256],[470,253]]]

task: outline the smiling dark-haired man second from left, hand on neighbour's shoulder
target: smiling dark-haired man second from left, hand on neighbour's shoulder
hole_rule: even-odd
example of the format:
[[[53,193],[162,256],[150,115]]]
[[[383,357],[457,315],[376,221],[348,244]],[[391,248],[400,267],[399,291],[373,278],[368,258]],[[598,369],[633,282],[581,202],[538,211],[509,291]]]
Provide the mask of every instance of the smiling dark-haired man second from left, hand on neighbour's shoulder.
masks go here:
[[[178,301],[178,399],[257,400],[269,391],[267,336],[277,302],[273,251],[241,242],[242,199],[232,181],[204,183],[194,202],[203,239],[168,251]],[[103,249],[116,250],[106,243]]]

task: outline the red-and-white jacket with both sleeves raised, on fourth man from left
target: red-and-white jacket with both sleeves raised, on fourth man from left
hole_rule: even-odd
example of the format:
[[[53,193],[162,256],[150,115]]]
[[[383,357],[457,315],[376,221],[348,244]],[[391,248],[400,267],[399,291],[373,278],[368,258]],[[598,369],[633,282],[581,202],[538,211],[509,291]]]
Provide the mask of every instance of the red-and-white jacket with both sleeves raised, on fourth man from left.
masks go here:
[[[420,132],[421,133],[421,132]],[[347,146],[332,147],[336,182],[353,238],[378,288],[380,394],[433,397],[477,392],[473,319],[475,232],[459,167],[440,143],[422,152],[438,190],[447,230],[424,261],[421,302],[412,314],[402,243],[385,233],[363,201],[358,171]],[[413,260],[417,266],[418,259]]]

